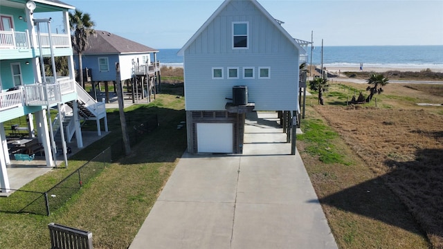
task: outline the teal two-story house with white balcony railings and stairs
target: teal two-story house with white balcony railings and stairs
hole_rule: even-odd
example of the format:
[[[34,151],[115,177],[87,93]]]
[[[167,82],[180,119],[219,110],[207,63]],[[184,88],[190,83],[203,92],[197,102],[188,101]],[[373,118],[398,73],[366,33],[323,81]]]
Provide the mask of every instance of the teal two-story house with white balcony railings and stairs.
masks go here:
[[[32,158],[38,153],[45,158],[47,166],[54,167],[54,154],[57,151],[62,151],[66,157],[66,140],[70,141],[75,135],[77,146],[83,147],[80,120],[93,119],[99,124],[100,119],[104,118],[107,129],[105,104],[91,100],[75,82],[71,35],[52,34],[48,31],[51,30],[51,15],[62,15],[62,30],[69,30],[68,12],[73,9],[74,6],[57,0],[0,1],[2,193],[10,192],[7,167],[15,163],[14,158],[21,158],[20,156],[26,154]],[[37,19],[34,15],[37,12],[48,17]],[[45,75],[42,72],[44,57],[66,57],[69,75]],[[54,71],[53,68],[52,72]],[[48,109],[58,111],[59,121],[51,120]],[[17,118],[28,120],[27,127],[17,127],[12,122]],[[15,133],[6,133],[5,127]],[[100,135],[99,126],[98,134]],[[55,142],[55,136],[60,136],[61,142]]]

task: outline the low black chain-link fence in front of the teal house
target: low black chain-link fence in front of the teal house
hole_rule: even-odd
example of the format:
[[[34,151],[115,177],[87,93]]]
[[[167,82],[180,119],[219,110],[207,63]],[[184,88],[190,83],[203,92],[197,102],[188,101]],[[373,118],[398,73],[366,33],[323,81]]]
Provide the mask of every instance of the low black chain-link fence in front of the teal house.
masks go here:
[[[71,199],[82,185],[98,176],[110,163],[111,147],[108,147],[46,192],[12,190],[15,191],[13,194],[1,200],[0,211],[50,215],[52,211],[62,207]]]

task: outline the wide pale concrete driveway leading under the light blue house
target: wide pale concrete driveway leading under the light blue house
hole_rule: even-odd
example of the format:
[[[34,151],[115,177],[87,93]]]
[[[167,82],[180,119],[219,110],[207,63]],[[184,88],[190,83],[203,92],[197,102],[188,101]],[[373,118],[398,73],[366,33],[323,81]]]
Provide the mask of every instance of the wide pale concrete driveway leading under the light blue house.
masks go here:
[[[244,154],[183,154],[136,248],[337,248],[276,113],[246,120]]]

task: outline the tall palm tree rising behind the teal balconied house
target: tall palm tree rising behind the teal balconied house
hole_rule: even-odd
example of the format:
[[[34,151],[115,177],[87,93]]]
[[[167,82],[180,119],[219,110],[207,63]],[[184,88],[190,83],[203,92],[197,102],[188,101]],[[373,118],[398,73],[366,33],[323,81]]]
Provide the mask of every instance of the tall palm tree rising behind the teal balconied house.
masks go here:
[[[87,48],[89,35],[96,33],[93,29],[93,26],[96,24],[91,21],[91,17],[88,13],[83,13],[81,10],[75,10],[73,13],[69,12],[69,25],[73,32],[73,35],[71,35],[72,47],[78,54],[80,85],[84,88],[82,53]]]

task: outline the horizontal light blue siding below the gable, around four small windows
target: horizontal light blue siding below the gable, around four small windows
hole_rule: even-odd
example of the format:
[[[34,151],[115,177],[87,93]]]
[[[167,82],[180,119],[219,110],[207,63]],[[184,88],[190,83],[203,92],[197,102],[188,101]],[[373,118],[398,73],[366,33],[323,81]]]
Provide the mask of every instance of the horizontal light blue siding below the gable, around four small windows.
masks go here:
[[[289,54],[275,55],[187,55],[186,110],[225,109],[232,98],[232,87],[248,86],[248,101],[257,111],[295,110],[298,96],[298,60]],[[224,79],[212,79],[212,67],[224,68]],[[242,78],[244,66],[255,68],[255,79]],[[259,79],[258,68],[269,66],[271,79]],[[227,67],[239,67],[239,79],[227,79]]]

